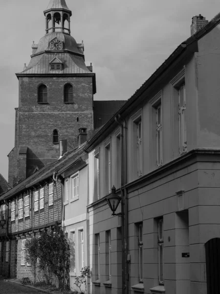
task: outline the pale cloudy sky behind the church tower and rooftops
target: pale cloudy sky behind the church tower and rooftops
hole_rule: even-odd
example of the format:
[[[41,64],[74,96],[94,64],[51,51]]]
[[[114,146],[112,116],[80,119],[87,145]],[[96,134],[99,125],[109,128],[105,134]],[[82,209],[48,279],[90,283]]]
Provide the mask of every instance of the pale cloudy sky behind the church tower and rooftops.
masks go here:
[[[45,34],[43,11],[49,0],[0,0],[0,173],[8,179],[14,147],[15,73],[28,64],[33,41]],[[94,100],[125,100],[190,37],[194,15],[211,20],[219,0],[66,0],[72,10],[71,35],[85,45],[86,65],[96,73]]]

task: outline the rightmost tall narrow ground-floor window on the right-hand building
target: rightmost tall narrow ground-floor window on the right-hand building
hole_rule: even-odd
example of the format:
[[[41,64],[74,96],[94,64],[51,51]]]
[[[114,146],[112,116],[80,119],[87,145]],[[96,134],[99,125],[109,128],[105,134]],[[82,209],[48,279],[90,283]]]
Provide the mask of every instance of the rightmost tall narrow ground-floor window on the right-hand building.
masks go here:
[[[161,260],[162,256],[162,260]],[[163,268],[164,268],[164,263],[163,263],[163,219],[158,220],[158,277],[159,277],[159,284],[163,285],[164,284],[164,279],[163,279]]]

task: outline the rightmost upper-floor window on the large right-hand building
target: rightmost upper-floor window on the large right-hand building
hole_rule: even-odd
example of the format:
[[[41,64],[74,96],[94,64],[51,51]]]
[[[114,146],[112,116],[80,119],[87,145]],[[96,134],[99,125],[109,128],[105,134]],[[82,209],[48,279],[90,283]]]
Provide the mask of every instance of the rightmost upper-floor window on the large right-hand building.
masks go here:
[[[180,90],[183,88],[183,105],[180,105]],[[186,137],[186,125],[185,125],[185,111],[186,111],[186,90],[185,82],[178,89],[179,98],[179,153],[187,151],[187,137]]]

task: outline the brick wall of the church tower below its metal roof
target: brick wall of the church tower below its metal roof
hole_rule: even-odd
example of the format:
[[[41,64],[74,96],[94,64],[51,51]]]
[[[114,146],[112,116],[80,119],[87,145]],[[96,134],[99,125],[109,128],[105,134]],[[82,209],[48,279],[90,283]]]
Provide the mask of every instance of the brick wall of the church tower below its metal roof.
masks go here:
[[[73,85],[74,103],[64,103],[64,85]],[[38,104],[38,86],[47,86],[48,104]],[[78,119],[77,119],[78,118]],[[59,157],[52,132],[67,139],[67,148],[77,143],[79,127],[93,129],[91,77],[21,77],[19,97],[19,146],[27,146],[27,176]]]

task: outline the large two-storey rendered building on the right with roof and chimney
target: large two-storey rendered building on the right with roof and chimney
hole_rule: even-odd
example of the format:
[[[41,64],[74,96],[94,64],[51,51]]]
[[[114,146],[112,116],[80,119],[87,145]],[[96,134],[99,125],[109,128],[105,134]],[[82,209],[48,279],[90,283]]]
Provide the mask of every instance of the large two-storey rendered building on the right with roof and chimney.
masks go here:
[[[92,293],[218,292],[220,15],[191,29],[85,147]]]

